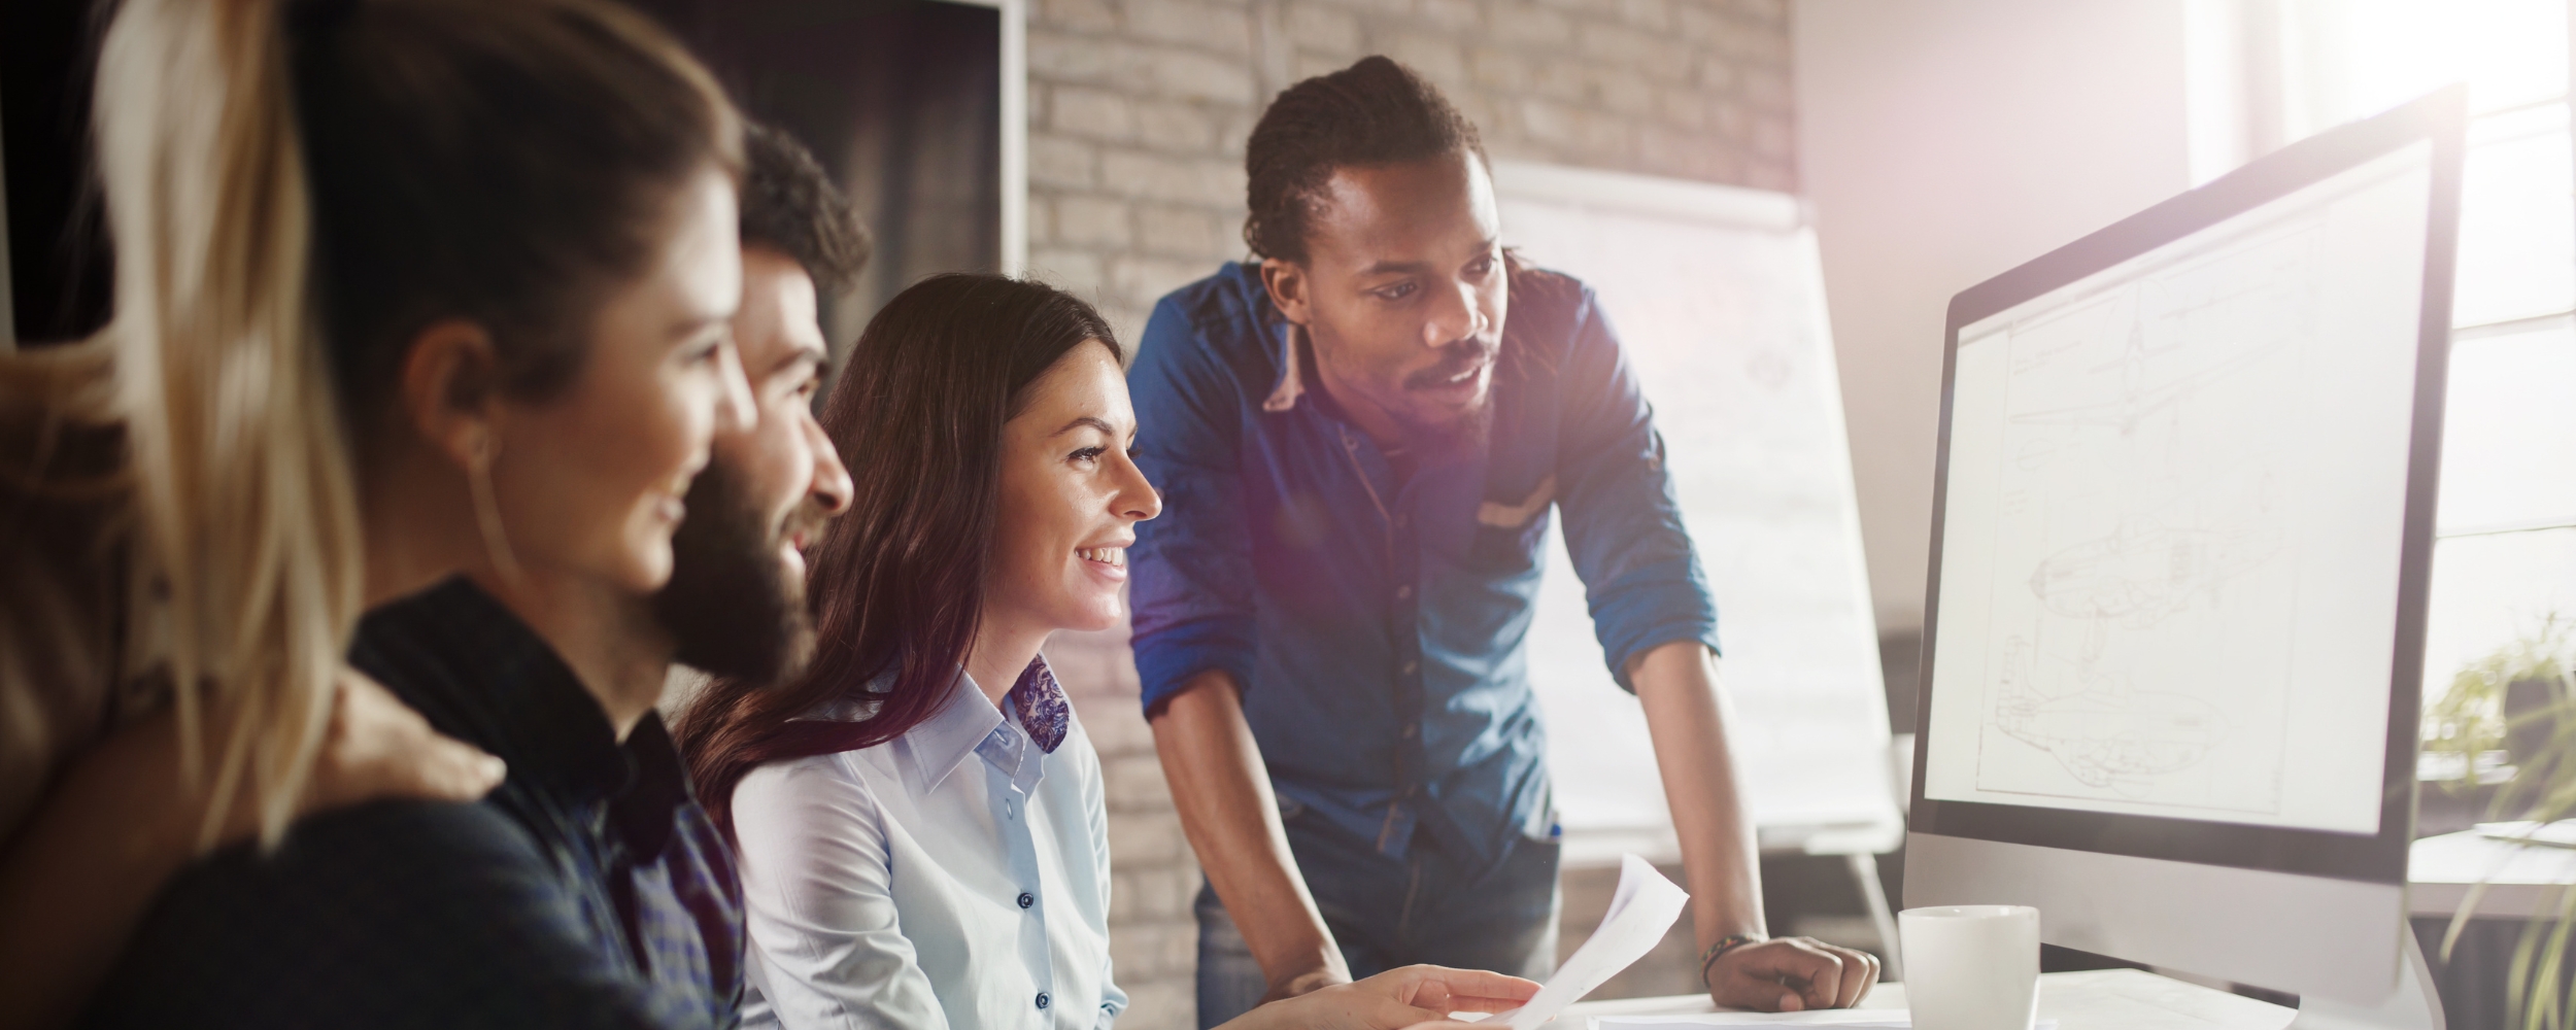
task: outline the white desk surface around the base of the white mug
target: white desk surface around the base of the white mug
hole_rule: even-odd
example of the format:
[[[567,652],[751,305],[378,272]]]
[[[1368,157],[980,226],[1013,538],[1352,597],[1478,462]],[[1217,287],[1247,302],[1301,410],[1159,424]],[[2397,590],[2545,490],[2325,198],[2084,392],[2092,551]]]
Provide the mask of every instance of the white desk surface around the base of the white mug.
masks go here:
[[[1860,999],[1860,1007],[1904,1009],[1906,986],[1878,984],[1870,997]],[[1548,1030],[1584,1030],[1584,1017],[1595,1015],[1690,1012],[1716,1012],[1716,1007],[1708,1004],[1705,994],[1582,1002],[1556,1017]],[[2102,968],[2040,976],[2040,1017],[2058,1020],[2058,1030],[2280,1030],[2298,1012],[2136,968]]]

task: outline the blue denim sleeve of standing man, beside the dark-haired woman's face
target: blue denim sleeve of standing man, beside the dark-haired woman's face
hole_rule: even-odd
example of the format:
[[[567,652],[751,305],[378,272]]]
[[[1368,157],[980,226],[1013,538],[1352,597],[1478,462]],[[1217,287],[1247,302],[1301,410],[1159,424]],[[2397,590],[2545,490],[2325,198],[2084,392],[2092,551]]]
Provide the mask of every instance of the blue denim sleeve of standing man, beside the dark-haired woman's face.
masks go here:
[[[1206,670],[1252,685],[1252,541],[1239,474],[1242,386],[1164,299],[1139,340],[1128,394],[1136,464],[1162,492],[1162,518],[1136,523],[1128,603],[1136,675],[1151,716]]]

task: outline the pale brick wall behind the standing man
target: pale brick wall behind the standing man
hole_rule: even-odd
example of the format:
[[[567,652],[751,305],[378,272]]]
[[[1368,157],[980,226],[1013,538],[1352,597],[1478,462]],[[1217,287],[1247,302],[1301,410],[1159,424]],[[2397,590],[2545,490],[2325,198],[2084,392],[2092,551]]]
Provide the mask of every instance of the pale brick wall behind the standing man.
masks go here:
[[[1788,0],[1033,0],[1030,273],[1133,340],[1244,255],[1244,136],[1285,85],[1396,57],[1504,160],[1788,191]],[[1195,1025],[1198,868],[1136,711],[1126,633],[1059,639],[1108,767],[1121,1027]],[[1579,935],[1571,940],[1582,940]]]

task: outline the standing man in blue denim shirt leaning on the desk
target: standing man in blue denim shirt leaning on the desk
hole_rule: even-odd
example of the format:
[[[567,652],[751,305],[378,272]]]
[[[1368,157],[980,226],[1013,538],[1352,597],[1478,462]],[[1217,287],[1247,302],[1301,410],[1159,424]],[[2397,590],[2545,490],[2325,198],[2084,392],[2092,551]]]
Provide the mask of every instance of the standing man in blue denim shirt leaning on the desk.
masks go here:
[[[1770,940],[1716,605],[1664,440],[1574,278],[1502,250],[1468,124],[1386,57],[1244,149],[1260,263],[1154,306],[1131,389],[1136,667],[1208,883],[1198,1017],[1404,963],[1546,976],[1556,811],[1522,641],[1566,548],[1646,706],[1716,1002],[1847,1007],[1878,960]]]

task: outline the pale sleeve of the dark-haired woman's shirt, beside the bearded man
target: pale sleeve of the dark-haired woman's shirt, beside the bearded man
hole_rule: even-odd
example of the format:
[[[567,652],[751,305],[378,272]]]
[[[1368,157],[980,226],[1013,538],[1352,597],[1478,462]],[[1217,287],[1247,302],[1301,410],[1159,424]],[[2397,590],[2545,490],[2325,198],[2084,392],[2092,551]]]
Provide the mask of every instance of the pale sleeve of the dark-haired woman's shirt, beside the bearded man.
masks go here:
[[[886,827],[827,762],[762,765],[734,788],[742,901],[760,989],[791,1030],[948,1027],[894,906]]]

